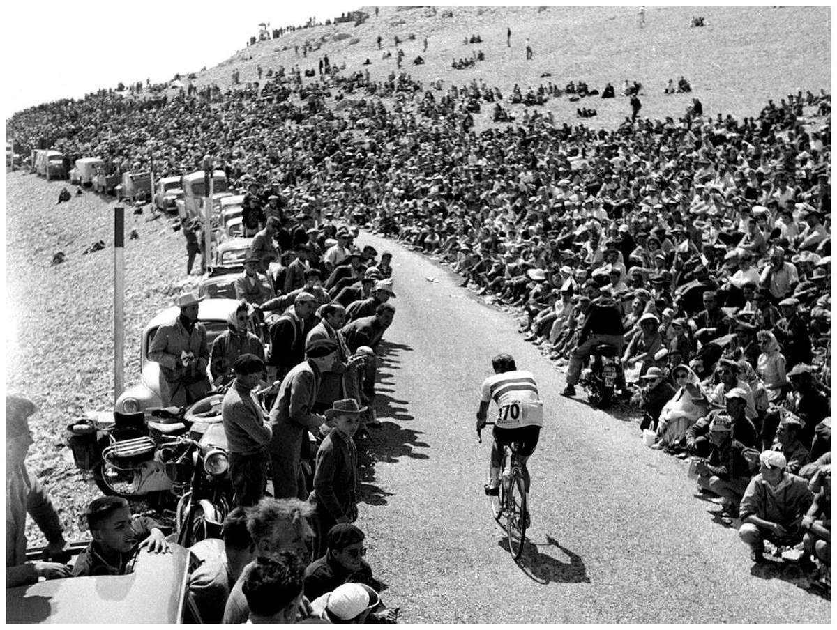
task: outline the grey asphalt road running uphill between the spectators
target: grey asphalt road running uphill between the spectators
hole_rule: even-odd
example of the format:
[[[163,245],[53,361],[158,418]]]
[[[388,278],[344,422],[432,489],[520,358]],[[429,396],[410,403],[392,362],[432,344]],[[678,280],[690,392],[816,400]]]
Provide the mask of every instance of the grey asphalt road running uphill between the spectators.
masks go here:
[[[393,252],[398,310],[358,525],[403,622],[829,623],[829,601],[752,564],[684,462],[645,447],[636,423],[560,397],[563,376],[511,315],[419,254],[360,241]],[[478,444],[474,427],[501,351],[534,372],[545,401],[519,564],[482,489],[490,434]]]

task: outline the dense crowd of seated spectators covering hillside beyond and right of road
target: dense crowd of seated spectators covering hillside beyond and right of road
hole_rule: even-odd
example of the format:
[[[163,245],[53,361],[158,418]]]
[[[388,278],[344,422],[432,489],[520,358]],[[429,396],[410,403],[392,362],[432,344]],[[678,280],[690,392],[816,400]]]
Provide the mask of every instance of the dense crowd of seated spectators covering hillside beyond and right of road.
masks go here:
[[[634,98],[642,89],[625,84]],[[829,470],[830,124],[808,124],[829,113],[829,95],[743,118],[649,120],[634,106],[609,131],[527,110],[475,133],[472,105],[486,95],[499,90],[472,81],[439,97],[406,74],[375,82],[332,65],[211,103],[59,101],[14,115],[8,136],[123,170],[153,154],[160,175],[197,170],[210,153],[259,206],[275,197],[285,228],[296,213],[317,226],[331,216],[444,259],[520,309],[559,365],[581,365],[588,335],[618,335],[619,393],[661,448],[706,459],[701,488],[742,518],[742,538],[756,545],[752,527],[785,542],[810,534],[756,515],[753,501],[786,484],[766,470],[796,489],[795,475]],[[596,330],[613,321],[594,316],[608,309],[619,326]]]

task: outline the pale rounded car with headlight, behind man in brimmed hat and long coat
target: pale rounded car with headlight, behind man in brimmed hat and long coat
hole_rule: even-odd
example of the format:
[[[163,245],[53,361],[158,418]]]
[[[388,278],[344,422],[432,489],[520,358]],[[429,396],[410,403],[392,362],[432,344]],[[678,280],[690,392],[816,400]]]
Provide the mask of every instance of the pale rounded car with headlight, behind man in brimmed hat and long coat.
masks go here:
[[[235,309],[235,300],[218,299],[203,300],[198,307],[198,321],[207,329],[207,343],[212,342],[224,330],[227,330],[227,317]],[[170,321],[173,321],[179,310],[177,306],[170,306],[155,315],[142,330],[142,341],[140,347],[140,382],[127,387],[120,397],[116,399],[115,411],[120,413],[136,413],[147,408],[162,407],[160,398],[160,365],[148,358],[148,348],[157,329]],[[207,369],[208,372],[208,369]]]

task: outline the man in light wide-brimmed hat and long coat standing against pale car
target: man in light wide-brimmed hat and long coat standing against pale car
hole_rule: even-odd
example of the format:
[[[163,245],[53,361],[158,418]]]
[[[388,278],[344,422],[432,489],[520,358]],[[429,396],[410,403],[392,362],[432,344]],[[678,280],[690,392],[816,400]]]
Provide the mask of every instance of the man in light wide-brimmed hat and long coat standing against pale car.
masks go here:
[[[202,301],[193,293],[178,295],[177,318],[157,329],[148,348],[149,361],[160,364],[163,407],[184,407],[206,396],[212,388],[207,374],[207,330],[198,321],[198,304]]]

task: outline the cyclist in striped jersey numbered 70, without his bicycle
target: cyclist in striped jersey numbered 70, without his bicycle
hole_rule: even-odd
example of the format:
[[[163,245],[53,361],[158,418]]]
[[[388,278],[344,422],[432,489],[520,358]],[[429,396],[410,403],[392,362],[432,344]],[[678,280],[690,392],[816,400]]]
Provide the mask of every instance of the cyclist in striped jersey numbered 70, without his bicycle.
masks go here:
[[[523,470],[526,491],[529,471],[526,460],[535,452],[543,425],[543,402],[537,392],[535,377],[530,371],[518,370],[511,355],[501,354],[491,360],[494,376],[485,379],[481,388],[480,410],[476,412],[476,430],[485,427],[491,400],[497,403],[494,444],[491,446],[489,482],[485,494],[500,494],[500,466],[503,450],[517,443],[516,458]]]

